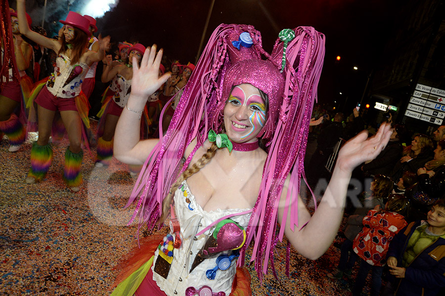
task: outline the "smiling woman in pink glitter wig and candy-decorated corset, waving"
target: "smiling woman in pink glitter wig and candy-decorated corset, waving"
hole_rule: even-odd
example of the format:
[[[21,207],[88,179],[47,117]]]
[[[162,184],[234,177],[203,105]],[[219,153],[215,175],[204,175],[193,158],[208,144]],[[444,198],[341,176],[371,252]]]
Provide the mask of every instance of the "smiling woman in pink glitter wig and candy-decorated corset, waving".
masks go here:
[[[327,250],[352,170],[376,157],[391,131],[383,125],[375,137],[361,133],[344,145],[311,217],[299,185],[323,56],[324,36],[311,27],[283,30],[268,54],[252,26],[221,25],[165,136],[139,141],[134,127],[147,96],[168,79],[158,77],[162,51],[147,48],[134,68],[115,156],[144,163],[129,201],[133,219],[149,228],[168,223],[171,233],[141,244],[112,295],[249,295],[240,266],[251,243],[260,279],[284,233],[310,259]]]

